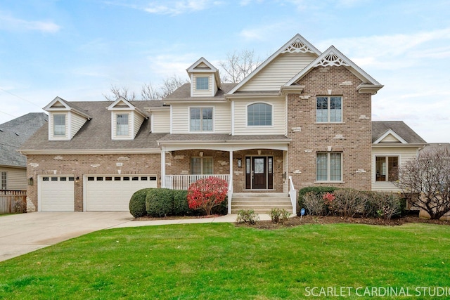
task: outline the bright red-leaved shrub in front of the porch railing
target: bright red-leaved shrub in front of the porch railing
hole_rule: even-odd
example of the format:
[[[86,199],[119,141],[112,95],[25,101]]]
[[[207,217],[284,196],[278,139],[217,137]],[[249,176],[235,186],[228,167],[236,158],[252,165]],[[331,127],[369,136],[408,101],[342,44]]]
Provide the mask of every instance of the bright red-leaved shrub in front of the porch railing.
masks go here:
[[[208,216],[212,208],[224,202],[228,193],[228,184],[224,179],[207,177],[191,183],[188,188],[190,209],[202,209]]]

